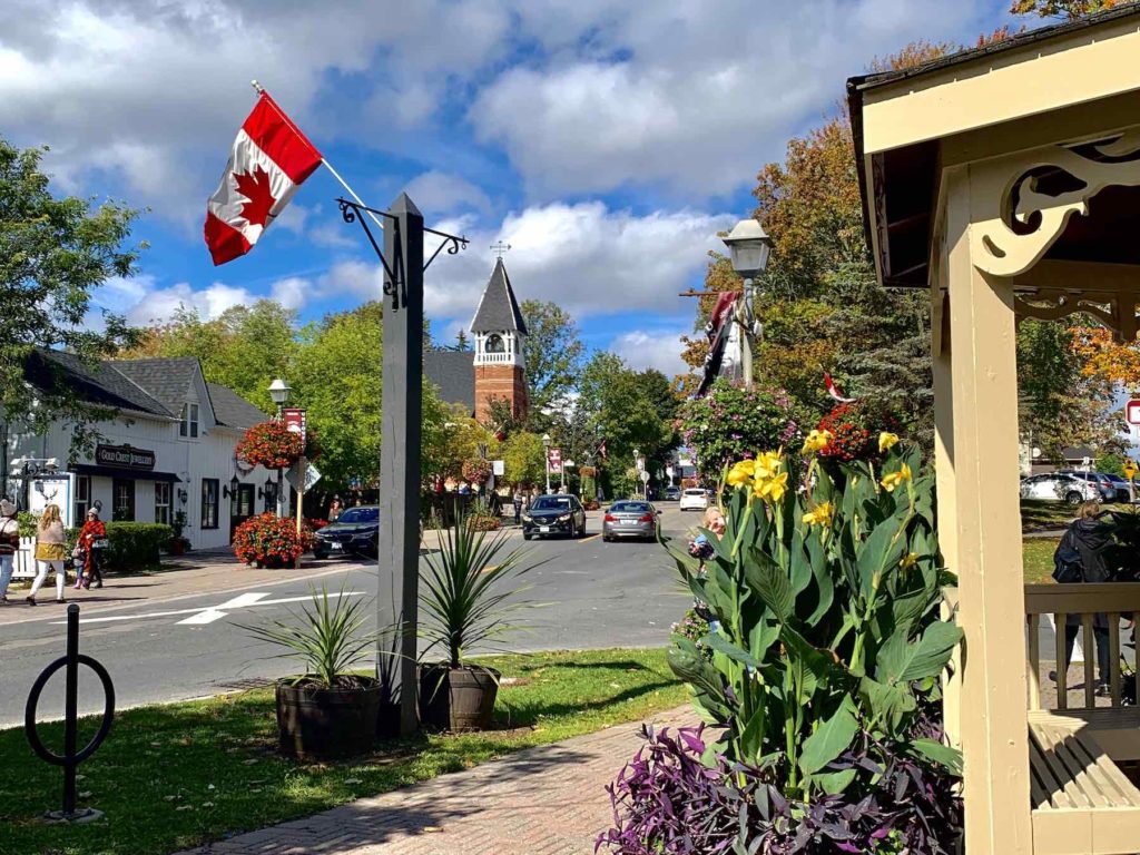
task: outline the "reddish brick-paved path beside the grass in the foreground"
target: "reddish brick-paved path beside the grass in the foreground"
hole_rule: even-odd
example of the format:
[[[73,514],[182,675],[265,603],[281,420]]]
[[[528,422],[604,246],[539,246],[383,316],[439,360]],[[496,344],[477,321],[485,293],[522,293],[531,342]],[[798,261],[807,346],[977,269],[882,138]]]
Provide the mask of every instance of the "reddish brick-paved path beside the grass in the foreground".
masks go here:
[[[697,719],[685,706],[650,720]],[[588,855],[612,820],[605,784],[640,731],[629,723],[531,748],[181,855]]]

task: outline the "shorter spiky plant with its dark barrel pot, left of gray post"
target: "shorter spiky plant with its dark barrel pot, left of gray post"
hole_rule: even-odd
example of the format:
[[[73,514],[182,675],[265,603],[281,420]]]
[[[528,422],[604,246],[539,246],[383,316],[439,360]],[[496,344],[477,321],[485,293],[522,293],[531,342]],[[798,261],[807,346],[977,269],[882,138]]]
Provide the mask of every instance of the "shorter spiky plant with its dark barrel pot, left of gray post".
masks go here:
[[[283,649],[277,658],[301,660],[304,670],[277,681],[280,751],[302,760],[352,757],[372,750],[381,707],[375,677],[351,673],[376,648],[365,629],[367,602],[343,587],[325,586],[293,621],[243,626],[254,638]]]

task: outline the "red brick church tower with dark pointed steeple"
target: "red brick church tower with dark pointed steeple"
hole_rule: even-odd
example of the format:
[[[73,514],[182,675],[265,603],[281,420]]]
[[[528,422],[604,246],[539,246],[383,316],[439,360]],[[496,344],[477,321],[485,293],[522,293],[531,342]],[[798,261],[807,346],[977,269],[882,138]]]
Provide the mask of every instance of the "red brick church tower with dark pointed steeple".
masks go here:
[[[526,418],[527,364],[522,341],[527,325],[502,256],[479,300],[471,332],[475,335],[475,418],[488,422],[494,400],[506,400],[515,418]]]

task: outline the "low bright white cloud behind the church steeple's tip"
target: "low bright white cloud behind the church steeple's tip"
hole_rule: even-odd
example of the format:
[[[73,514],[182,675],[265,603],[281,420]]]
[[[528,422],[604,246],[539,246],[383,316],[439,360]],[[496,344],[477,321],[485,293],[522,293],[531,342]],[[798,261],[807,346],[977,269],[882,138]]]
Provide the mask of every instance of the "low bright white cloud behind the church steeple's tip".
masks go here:
[[[640,217],[601,202],[528,207],[497,229],[469,231],[470,249],[437,259],[425,275],[424,307],[432,318],[470,320],[494,268],[484,247],[502,238],[512,246],[505,261],[519,300],[551,300],[579,319],[646,309],[684,315],[692,307],[677,292],[734,220],[695,211]],[[463,226],[439,228],[459,234]]]

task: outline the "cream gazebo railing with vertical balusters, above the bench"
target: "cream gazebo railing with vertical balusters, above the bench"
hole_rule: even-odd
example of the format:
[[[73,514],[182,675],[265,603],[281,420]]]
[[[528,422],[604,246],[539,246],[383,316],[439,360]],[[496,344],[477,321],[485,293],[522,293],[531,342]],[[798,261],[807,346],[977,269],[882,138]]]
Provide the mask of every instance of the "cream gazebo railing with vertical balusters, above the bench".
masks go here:
[[[1140,614],[1140,584],[1137,583],[1090,583],[1080,585],[1026,585],[1025,614],[1028,622],[1028,683],[1029,709],[1041,709],[1041,617],[1053,616],[1054,658],[1057,662],[1057,709],[1070,709],[1068,702],[1068,675],[1065,667],[1066,622],[1070,616],[1080,616],[1081,644],[1084,649],[1084,703],[1076,709],[1093,709],[1097,706],[1097,681],[1094,668],[1093,618],[1105,614],[1108,620],[1109,700],[1112,707],[1121,707],[1123,676],[1121,670],[1121,619],[1132,620],[1133,627]],[[1140,676],[1133,673],[1130,679]]]

